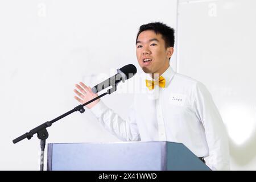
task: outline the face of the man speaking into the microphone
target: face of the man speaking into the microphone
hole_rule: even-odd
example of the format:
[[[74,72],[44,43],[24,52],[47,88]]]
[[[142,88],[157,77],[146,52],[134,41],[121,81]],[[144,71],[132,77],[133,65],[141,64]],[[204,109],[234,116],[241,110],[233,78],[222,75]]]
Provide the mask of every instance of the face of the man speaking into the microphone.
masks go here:
[[[160,76],[169,67],[173,47],[165,47],[161,34],[152,30],[141,32],[136,47],[138,63],[145,73],[158,73]]]

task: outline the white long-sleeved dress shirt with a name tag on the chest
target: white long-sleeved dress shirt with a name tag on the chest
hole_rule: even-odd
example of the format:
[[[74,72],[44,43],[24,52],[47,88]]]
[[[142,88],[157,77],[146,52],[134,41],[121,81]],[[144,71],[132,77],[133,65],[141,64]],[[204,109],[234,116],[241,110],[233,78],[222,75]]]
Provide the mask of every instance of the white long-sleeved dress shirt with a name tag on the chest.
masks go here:
[[[156,85],[148,90],[143,84],[148,91],[135,94],[127,119],[102,101],[90,110],[121,140],[183,143],[196,156],[209,156],[207,165],[211,169],[229,170],[228,136],[207,88],[171,67],[162,76],[165,88]]]

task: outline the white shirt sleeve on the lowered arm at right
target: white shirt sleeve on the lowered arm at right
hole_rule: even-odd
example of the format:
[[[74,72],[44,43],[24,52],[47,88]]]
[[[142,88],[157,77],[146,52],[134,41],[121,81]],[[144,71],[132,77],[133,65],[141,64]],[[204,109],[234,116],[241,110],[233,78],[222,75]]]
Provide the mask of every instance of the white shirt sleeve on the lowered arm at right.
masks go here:
[[[228,135],[221,115],[201,82],[196,83],[194,91],[196,114],[203,123],[209,148],[208,166],[212,170],[230,170]]]

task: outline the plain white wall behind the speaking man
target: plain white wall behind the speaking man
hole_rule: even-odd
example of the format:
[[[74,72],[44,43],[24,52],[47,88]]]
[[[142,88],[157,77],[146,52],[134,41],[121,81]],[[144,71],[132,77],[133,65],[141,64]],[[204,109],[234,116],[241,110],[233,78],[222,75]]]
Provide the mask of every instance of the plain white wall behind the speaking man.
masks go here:
[[[184,1],[179,1],[180,14],[177,16],[176,0],[1,1],[0,169],[38,170],[40,142],[36,135],[16,144],[12,140],[79,105],[73,98],[77,82],[93,86],[104,77],[114,75],[116,68],[129,63],[135,64],[140,73],[135,55],[139,26],[160,21],[176,30],[177,20],[178,64],[175,53],[171,59],[172,67],[176,69],[177,66],[180,73],[204,82],[212,92],[227,129],[232,131],[232,169],[256,169],[255,56],[252,53],[256,16],[247,6],[250,3],[255,5],[255,2],[237,0],[232,4],[235,1],[227,1],[231,4],[226,5],[226,11],[221,11],[224,14],[243,7],[240,9],[244,15],[240,19],[240,28],[235,31],[237,17],[233,11],[230,16],[217,14],[215,19],[209,19],[204,11],[209,11],[210,2],[197,2],[194,3],[197,6],[191,3],[187,6]],[[215,3],[222,5],[219,1]],[[212,25],[210,21],[220,26],[217,34],[213,34],[215,26],[209,27]],[[238,42],[242,43],[237,46],[232,42],[232,35],[236,32],[243,35],[242,38],[238,36]],[[219,44],[216,38],[219,38]],[[239,52],[241,47],[243,53]],[[214,69],[218,69],[218,76],[213,76]],[[113,93],[102,100],[126,117],[132,99],[133,95],[129,93]],[[120,102],[125,104],[120,107]],[[224,106],[228,110],[223,109]],[[233,115],[241,110],[240,115]],[[241,127],[243,132],[234,130]],[[250,133],[246,132],[248,129]],[[48,143],[119,141],[105,131],[89,111],[61,119],[48,132]]]

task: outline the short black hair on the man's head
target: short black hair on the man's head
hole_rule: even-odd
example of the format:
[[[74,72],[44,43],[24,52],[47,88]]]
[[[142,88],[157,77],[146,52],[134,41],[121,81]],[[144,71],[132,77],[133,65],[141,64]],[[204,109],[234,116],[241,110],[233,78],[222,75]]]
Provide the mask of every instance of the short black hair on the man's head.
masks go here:
[[[155,34],[161,34],[166,48],[174,47],[174,32],[175,32],[174,28],[171,28],[166,24],[160,23],[160,22],[143,24],[141,27],[139,27],[139,31],[136,38],[136,44],[138,41],[139,34],[141,34],[141,32],[146,30],[152,30],[155,32]]]

